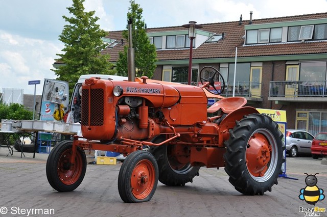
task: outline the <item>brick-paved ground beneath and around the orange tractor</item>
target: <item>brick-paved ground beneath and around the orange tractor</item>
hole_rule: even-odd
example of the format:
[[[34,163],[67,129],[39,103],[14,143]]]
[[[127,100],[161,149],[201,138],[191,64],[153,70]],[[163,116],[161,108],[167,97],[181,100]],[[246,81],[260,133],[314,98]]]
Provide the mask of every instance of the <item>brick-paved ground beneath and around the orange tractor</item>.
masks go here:
[[[201,168],[193,183],[183,187],[159,183],[151,201],[128,204],[118,193],[121,164],[88,165],[83,182],[74,192],[58,193],[46,179],[48,154],[36,154],[34,159],[30,153],[23,158],[15,151],[13,156],[6,157],[7,153],[0,149],[0,212],[1,207],[8,209],[0,217],[28,216],[18,214],[18,207],[20,211],[54,209],[55,214],[48,216],[305,216],[299,206],[313,206],[298,198],[299,190],[306,187],[304,172],[319,172],[317,185],[327,196],[327,166],[320,164],[321,158],[288,158],[287,175],[298,180],[278,178],[279,184],[264,196],[238,193],[223,168]],[[327,208],[327,199],[316,205]],[[327,216],[327,212],[320,216]]]

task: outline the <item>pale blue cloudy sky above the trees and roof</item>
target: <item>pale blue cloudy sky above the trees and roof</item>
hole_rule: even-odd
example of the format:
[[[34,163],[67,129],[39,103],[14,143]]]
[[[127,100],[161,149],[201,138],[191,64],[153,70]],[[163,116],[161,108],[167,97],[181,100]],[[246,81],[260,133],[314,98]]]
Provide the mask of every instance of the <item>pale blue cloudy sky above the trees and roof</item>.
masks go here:
[[[225,22],[326,12],[327,0],[303,5],[296,0],[135,0],[143,8],[148,28],[177,26],[195,20]],[[0,92],[3,88],[24,89],[34,94],[29,80],[41,80],[36,93],[42,94],[44,78],[56,78],[50,70],[63,44],[58,40],[70,17],[72,0],[0,0]],[[126,28],[129,0],[86,0],[85,11],[96,11],[105,31]]]

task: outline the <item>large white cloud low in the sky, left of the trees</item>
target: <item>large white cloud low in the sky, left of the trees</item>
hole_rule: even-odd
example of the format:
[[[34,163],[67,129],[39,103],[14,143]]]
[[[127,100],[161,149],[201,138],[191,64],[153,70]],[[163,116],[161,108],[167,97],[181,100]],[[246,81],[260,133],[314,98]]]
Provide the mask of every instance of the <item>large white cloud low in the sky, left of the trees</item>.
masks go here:
[[[6,36],[6,37],[4,37]],[[24,38],[0,31],[0,88],[25,89],[24,93],[33,94],[34,87],[28,85],[29,80],[55,78],[52,64],[61,50],[61,43],[46,40]],[[8,43],[16,41],[18,43]],[[42,93],[42,85],[37,86],[37,93]]]

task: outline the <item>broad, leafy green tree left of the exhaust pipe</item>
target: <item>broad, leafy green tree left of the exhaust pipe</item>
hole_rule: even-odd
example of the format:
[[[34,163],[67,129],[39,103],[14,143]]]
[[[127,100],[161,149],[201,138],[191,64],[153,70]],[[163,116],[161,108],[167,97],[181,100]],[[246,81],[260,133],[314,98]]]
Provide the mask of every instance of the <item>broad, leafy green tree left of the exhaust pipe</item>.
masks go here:
[[[96,24],[98,17],[95,11],[84,12],[84,0],[73,0],[72,7],[68,7],[72,17],[62,16],[69,24],[64,25],[59,40],[64,43],[62,51],[57,54],[63,66],[52,69],[57,79],[69,83],[69,90],[73,90],[75,83],[82,74],[113,74],[109,55],[101,55],[105,48],[101,40],[106,32]]]

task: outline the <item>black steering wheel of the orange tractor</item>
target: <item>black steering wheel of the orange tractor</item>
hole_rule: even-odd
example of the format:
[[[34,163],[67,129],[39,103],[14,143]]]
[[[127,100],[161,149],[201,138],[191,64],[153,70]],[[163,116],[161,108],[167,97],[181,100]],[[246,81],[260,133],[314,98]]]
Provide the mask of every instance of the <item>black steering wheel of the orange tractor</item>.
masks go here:
[[[200,80],[201,84],[203,85],[207,91],[209,91],[212,94],[219,95],[225,90],[225,80],[223,76],[220,74],[220,72],[211,66],[205,66],[201,69],[200,72]],[[220,85],[220,88],[215,87],[215,82],[221,81],[222,84]],[[213,87],[210,88],[210,87]]]

